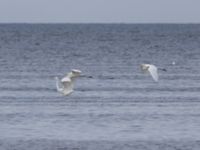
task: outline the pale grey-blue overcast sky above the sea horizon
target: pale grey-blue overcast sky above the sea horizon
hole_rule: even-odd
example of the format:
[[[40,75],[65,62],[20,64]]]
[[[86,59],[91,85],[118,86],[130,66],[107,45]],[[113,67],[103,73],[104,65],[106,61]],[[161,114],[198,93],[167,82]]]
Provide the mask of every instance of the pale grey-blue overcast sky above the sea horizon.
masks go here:
[[[200,23],[200,0],[0,0],[0,23]]]

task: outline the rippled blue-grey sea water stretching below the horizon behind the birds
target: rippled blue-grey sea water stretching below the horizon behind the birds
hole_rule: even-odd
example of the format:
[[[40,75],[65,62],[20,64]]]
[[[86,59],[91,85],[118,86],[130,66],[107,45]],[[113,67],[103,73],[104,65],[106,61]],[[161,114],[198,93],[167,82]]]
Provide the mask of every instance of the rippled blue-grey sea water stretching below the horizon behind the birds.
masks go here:
[[[1,24],[0,147],[198,149],[199,58],[198,24]],[[73,68],[93,78],[64,97]]]

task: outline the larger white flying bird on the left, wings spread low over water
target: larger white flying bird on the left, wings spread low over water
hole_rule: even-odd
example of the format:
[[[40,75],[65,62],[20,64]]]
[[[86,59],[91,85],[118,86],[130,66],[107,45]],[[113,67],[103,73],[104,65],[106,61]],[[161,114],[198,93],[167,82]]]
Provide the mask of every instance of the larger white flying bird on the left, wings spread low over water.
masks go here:
[[[73,69],[61,80],[59,80],[58,77],[55,77],[57,91],[65,96],[71,94],[74,88],[74,80],[80,75],[80,70]]]

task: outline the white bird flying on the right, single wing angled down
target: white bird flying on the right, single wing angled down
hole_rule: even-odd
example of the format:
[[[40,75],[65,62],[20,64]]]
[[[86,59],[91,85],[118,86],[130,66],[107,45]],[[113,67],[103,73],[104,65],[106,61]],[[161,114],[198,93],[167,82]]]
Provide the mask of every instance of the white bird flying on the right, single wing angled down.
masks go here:
[[[156,66],[151,64],[141,64],[141,70],[144,73],[149,73],[155,82],[158,82],[158,69]]]

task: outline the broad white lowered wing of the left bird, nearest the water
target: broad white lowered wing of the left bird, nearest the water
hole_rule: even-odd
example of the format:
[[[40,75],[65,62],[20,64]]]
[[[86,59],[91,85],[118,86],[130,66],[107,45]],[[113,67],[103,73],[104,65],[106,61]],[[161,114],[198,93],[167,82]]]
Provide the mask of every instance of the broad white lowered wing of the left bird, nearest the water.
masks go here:
[[[72,83],[70,78],[64,77],[61,80],[61,83],[62,83],[62,86],[63,86],[63,94],[64,95],[68,95],[71,92],[73,92],[73,83]]]

